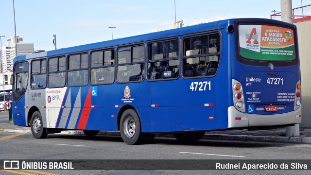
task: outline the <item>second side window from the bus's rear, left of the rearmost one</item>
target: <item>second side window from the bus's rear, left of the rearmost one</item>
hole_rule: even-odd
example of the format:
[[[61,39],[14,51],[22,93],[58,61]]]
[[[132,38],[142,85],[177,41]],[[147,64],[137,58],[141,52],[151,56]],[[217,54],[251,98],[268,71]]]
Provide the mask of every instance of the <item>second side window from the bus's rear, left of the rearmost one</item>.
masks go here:
[[[176,79],[179,76],[179,40],[148,45],[148,80]]]

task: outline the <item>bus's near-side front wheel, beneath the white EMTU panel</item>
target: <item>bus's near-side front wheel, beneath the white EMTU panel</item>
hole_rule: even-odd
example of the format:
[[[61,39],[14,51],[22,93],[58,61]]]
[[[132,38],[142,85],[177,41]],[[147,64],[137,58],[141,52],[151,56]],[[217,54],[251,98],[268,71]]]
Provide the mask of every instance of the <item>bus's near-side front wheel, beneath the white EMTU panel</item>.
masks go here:
[[[43,121],[39,111],[35,111],[31,117],[30,127],[35,139],[44,139],[47,137],[47,129],[43,127]]]

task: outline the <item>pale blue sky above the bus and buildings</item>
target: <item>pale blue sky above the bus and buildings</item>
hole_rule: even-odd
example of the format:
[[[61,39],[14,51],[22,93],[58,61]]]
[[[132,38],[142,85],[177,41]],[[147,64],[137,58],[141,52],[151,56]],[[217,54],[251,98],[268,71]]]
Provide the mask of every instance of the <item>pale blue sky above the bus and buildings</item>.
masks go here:
[[[280,0],[14,0],[16,35],[35,50],[57,49],[227,18],[270,18]],[[311,0],[292,0],[292,7]],[[2,46],[15,35],[13,0],[0,0]]]

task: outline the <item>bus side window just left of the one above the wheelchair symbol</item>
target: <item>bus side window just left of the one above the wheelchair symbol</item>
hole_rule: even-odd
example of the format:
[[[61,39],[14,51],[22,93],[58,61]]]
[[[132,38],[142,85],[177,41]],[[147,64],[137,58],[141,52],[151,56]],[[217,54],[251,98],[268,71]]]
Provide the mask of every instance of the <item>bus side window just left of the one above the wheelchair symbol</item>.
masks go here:
[[[76,54],[68,57],[68,86],[86,86],[88,84],[88,54]]]

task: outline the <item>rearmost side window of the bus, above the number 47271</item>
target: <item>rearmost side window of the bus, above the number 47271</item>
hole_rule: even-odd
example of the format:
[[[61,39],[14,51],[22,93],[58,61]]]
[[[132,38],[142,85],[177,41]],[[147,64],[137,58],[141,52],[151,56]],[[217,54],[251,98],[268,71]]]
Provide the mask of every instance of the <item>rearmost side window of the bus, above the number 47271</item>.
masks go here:
[[[208,34],[184,39],[183,76],[214,76],[220,60],[220,35]]]

